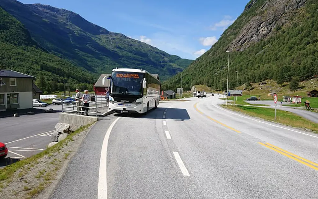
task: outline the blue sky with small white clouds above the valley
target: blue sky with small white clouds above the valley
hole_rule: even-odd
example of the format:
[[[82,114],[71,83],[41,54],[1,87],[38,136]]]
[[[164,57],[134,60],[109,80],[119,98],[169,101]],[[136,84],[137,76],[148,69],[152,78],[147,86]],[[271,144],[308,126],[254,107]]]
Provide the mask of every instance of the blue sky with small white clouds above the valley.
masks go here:
[[[218,40],[249,0],[20,0],[78,13],[112,32],[196,59]]]

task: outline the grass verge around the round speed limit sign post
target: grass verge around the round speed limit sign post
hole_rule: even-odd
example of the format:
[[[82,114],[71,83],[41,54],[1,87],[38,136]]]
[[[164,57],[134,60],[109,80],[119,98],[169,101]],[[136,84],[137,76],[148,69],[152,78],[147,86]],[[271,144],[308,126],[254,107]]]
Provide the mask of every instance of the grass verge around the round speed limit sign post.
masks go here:
[[[274,119],[275,110],[262,108],[262,107],[251,107],[251,106],[233,106],[233,105],[222,105],[222,107],[245,113],[253,117],[259,117],[268,121],[278,122],[281,124],[289,125],[296,128],[309,129],[318,133],[318,124],[307,120],[301,116],[285,110],[277,110],[276,120]]]

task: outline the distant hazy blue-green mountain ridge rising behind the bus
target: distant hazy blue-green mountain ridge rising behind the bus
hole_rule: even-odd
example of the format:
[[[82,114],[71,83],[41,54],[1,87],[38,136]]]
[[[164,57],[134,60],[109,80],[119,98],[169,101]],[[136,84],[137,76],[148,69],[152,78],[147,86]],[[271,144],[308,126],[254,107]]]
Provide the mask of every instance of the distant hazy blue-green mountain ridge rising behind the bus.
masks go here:
[[[0,6],[22,22],[32,39],[48,52],[95,74],[115,67],[143,68],[165,80],[193,61],[110,32],[65,9],[15,0],[1,0]]]

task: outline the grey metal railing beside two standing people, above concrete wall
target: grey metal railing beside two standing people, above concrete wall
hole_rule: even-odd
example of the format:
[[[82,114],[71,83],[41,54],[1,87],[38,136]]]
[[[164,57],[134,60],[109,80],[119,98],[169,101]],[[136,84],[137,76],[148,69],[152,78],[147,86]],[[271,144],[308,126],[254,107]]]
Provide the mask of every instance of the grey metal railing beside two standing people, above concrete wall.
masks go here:
[[[63,99],[64,97],[67,97],[67,98],[72,98],[74,100],[66,100],[66,99]],[[76,111],[76,112],[81,112],[81,113],[93,113],[96,115],[97,117],[97,102],[93,102],[93,101],[87,101],[87,100],[83,100],[83,99],[80,99],[80,98],[75,98],[75,97],[70,97],[70,96],[64,96],[62,95],[62,113],[64,113],[65,110],[68,110],[68,111]],[[82,106],[82,103],[86,101],[88,102],[90,105],[87,107],[87,106]],[[71,104],[66,104],[66,103],[71,103]],[[75,103],[75,105],[74,105]],[[80,105],[77,105],[78,103],[80,103]],[[91,104],[94,104],[95,106],[93,107]],[[70,107],[73,107],[73,109],[66,109],[65,106],[67,106],[66,108],[70,108]],[[76,110],[74,110],[74,107],[76,107]],[[87,111],[83,111],[83,108],[87,109]],[[92,111],[88,111],[90,108],[95,108],[95,111],[92,112]]]

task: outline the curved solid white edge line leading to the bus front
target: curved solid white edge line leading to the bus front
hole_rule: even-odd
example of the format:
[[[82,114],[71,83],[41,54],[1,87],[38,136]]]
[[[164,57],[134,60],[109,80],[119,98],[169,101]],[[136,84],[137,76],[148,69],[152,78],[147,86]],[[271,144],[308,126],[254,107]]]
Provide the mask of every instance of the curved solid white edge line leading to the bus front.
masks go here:
[[[114,125],[121,117],[117,117],[112,124],[108,127],[108,130],[105,134],[103,145],[100,152],[100,167],[98,174],[98,199],[107,199],[107,146],[110,132],[112,131]]]

